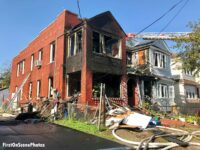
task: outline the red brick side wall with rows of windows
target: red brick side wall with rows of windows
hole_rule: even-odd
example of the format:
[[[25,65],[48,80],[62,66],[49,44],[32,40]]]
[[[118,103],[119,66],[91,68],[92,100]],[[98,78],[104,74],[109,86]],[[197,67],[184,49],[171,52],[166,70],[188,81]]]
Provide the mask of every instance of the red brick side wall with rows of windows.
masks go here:
[[[32,97],[36,99],[37,80],[41,80],[41,96],[48,96],[48,78],[54,78],[54,88],[62,91],[62,98],[65,97],[65,77],[63,72],[64,64],[64,31],[65,27],[71,27],[78,24],[80,20],[76,14],[69,11],[63,11],[47,28],[45,28],[38,37],[36,37],[23,51],[12,61],[10,93],[15,92],[16,86],[19,88],[24,78],[29,72],[31,76],[23,87],[23,100],[28,99],[29,83],[32,82]],[[55,61],[50,63],[50,43],[55,41]],[[34,67],[31,71],[31,55],[34,54],[34,60],[38,59],[39,50],[43,50],[42,67]],[[24,74],[17,77],[17,64],[25,60]]]

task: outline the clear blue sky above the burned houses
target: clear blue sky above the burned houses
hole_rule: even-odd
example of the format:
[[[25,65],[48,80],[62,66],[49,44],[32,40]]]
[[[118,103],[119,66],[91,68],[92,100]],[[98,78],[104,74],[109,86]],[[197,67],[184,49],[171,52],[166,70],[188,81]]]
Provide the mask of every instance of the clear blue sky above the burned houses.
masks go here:
[[[111,11],[125,32],[137,33],[163,15],[180,0],[79,0],[82,18]],[[144,32],[160,32],[184,5]],[[187,32],[189,21],[199,21],[200,0],[189,0],[165,32]],[[0,0],[0,67],[9,65],[42,29],[64,9],[78,14],[77,0]]]

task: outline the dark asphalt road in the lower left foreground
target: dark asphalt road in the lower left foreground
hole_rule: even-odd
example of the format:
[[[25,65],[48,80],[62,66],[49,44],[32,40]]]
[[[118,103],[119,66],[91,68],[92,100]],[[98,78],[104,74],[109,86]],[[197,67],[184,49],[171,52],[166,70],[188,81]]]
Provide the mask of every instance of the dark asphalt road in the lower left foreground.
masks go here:
[[[10,143],[32,143],[32,145],[40,143],[41,145],[37,145],[40,147],[5,148],[5,144]],[[45,147],[43,147],[44,145]],[[124,147],[113,141],[54,124],[0,121],[0,150],[96,150],[124,149]]]

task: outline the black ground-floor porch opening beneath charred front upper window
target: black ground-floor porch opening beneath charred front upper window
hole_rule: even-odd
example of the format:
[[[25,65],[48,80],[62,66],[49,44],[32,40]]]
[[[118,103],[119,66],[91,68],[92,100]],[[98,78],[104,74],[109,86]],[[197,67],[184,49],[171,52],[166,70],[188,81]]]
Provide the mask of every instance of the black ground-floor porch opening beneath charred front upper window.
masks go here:
[[[120,76],[101,73],[93,74],[93,97],[100,97],[101,83],[105,83],[107,97],[120,97]]]

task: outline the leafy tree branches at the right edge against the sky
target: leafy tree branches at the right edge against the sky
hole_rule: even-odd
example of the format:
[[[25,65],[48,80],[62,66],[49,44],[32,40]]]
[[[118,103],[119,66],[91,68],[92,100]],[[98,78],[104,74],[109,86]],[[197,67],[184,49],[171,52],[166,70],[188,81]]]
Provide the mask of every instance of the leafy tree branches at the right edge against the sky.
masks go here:
[[[178,56],[183,62],[183,69],[194,71],[194,74],[200,71],[200,21],[190,22],[188,26],[192,32],[185,37],[175,39],[178,48]]]

